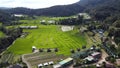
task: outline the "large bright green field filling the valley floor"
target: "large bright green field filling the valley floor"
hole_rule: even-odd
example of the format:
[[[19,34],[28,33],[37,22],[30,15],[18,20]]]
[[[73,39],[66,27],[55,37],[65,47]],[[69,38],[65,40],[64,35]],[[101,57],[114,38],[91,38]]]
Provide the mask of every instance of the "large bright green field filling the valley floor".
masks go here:
[[[7,50],[19,54],[32,52],[32,46],[39,48],[58,48],[57,54],[70,55],[70,49],[86,45],[86,38],[78,30],[62,32],[56,25],[39,25],[38,29],[25,29],[29,32],[25,38],[19,38]]]

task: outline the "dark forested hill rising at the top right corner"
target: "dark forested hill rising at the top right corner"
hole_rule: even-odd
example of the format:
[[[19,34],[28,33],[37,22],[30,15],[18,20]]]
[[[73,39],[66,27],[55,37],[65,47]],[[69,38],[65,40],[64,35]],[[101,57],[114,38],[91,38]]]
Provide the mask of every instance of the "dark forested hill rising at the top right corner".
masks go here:
[[[96,20],[114,22],[120,19],[120,0],[81,0],[77,4],[86,6],[84,11]]]

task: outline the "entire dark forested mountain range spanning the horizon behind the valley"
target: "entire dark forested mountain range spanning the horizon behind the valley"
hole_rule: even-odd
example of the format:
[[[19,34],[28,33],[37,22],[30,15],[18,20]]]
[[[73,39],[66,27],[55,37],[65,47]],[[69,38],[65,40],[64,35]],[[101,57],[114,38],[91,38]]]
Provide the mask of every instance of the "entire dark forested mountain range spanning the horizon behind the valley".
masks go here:
[[[80,0],[71,5],[59,5],[44,9],[9,8],[2,9],[11,14],[27,14],[39,16],[70,16],[80,12],[88,12],[94,19],[114,22],[120,19],[120,0]]]

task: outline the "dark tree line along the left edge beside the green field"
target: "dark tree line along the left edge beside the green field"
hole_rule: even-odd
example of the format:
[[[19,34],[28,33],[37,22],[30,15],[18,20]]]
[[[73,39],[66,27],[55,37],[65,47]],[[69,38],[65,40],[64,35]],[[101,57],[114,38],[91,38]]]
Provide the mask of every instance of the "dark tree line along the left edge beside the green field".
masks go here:
[[[20,28],[7,29],[4,26],[0,26],[0,31],[6,34],[5,37],[0,38],[0,53],[9,47],[14,40],[16,40],[22,34],[22,29]]]

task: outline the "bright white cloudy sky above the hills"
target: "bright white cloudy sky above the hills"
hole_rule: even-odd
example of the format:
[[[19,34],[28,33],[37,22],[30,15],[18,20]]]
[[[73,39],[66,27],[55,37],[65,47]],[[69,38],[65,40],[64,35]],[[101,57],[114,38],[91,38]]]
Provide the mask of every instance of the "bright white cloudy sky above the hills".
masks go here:
[[[79,0],[0,0],[0,7],[47,8],[54,5],[67,5]]]

